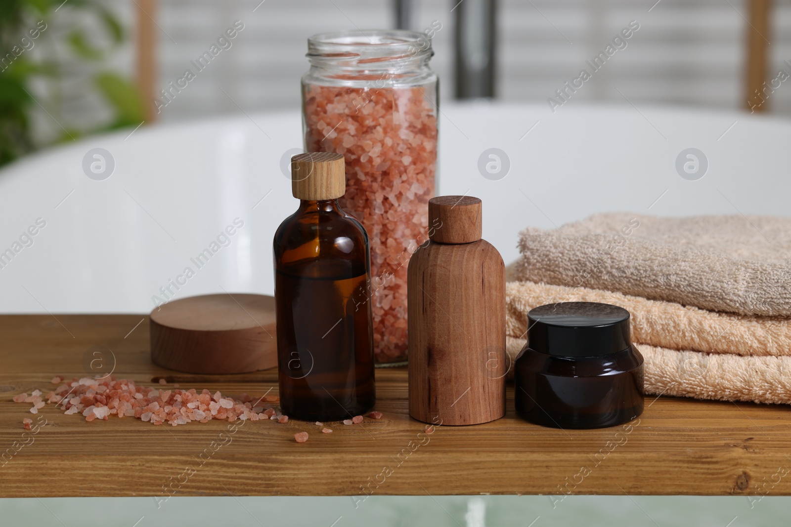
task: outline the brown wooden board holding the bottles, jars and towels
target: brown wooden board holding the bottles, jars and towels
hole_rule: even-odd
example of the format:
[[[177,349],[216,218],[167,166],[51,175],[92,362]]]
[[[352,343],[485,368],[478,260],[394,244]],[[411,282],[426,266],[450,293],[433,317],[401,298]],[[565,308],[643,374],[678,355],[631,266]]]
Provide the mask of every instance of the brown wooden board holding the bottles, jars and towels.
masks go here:
[[[51,386],[55,374],[86,375],[85,353],[93,346],[112,350],[115,375],[138,382],[156,384],[165,375],[184,388],[277,391],[274,370],[210,378],[153,366],[148,322],[139,314],[56,316],[59,322],[49,315],[0,316],[0,451],[21,441],[22,419],[31,416],[30,405],[11,397]],[[377,409],[384,412],[378,422],[332,423],[332,434],[317,433],[312,423],[251,422],[202,465],[196,457],[229,423],[175,428],[127,418],[87,423],[48,405],[41,410],[47,425],[0,466],[0,495],[165,499],[168,484],[180,485],[178,495],[354,495],[355,500],[371,492],[560,499],[558,485],[567,484],[576,485],[574,494],[791,495],[791,474],[778,476],[791,466],[788,407],[649,398],[631,431],[562,431],[518,419],[509,387],[504,418],[422,435],[426,425],[407,414],[406,369],[379,369],[377,382]],[[308,442],[294,442],[296,431],[308,431]],[[185,475],[187,466],[197,466],[195,473]],[[582,467],[589,473],[580,476]]]

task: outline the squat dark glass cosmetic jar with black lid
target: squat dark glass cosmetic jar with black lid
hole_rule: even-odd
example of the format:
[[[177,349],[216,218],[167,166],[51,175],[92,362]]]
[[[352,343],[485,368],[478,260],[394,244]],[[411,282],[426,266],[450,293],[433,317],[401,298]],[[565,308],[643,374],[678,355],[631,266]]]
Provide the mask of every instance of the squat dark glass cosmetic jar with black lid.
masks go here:
[[[562,302],[528,312],[528,343],[514,366],[517,412],[554,428],[626,423],[643,410],[643,358],[629,311]]]

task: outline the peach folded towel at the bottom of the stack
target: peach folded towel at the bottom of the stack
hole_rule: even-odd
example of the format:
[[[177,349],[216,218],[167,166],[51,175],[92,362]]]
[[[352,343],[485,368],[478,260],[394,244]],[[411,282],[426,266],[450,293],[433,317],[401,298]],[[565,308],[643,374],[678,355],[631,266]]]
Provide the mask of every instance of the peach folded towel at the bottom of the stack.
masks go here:
[[[516,359],[525,340],[506,337],[505,341],[509,358]],[[646,395],[791,404],[791,357],[715,355],[634,345],[645,359]]]

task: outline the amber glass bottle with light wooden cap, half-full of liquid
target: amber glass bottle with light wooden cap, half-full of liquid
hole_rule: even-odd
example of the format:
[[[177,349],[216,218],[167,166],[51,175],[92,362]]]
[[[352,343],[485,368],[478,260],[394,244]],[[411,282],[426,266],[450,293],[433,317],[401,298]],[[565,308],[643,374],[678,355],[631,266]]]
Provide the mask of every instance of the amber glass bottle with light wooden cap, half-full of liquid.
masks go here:
[[[343,212],[343,156],[293,156],[296,213],[274,234],[280,405],[287,416],[342,420],[373,408],[368,235]]]

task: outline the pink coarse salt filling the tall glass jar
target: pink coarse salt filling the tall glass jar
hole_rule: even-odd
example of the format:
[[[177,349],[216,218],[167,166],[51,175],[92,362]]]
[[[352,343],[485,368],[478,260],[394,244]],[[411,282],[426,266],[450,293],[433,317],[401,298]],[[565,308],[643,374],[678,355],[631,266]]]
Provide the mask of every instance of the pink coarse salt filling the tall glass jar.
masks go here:
[[[392,277],[372,302],[377,360],[393,362],[407,354],[407,261],[411,243],[426,241],[427,202],[434,192],[437,111],[424,87],[305,87],[308,151],[339,152],[348,185],[339,199],[371,236],[371,272]],[[397,115],[398,119],[392,119]],[[340,119],[340,121],[339,121]],[[325,129],[335,126],[327,136]],[[337,137],[335,137],[337,135]],[[377,206],[378,205],[378,206]],[[389,246],[389,242],[395,246]],[[392,269],[389,262],[403,262]],[[399,301],[384,305],[381,293]],[[378,337],[378,338],[377,338]]]

